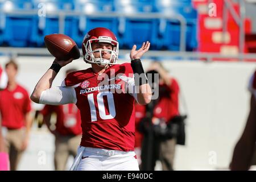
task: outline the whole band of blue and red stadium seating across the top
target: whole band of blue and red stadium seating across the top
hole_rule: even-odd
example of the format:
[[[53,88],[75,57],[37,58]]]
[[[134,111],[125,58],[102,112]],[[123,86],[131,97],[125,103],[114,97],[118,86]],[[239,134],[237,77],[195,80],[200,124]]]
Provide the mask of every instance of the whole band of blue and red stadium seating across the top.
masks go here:
[[[0,46],[44,47],[44,36],[62,33],[81,47],[86,32],[106,27],[121,49],[149,40],[151,49],[179,51],[185,20],[185,51],[238,53],[240,28],[228,12],[223,33],[224,0],[0,0]],[[240,6],[232,3],[239,16]],[[255,47],[246,18],[245,50]],[[253,47],[253,48],[251,48]]]

